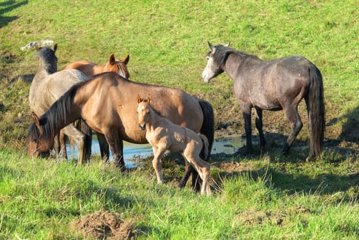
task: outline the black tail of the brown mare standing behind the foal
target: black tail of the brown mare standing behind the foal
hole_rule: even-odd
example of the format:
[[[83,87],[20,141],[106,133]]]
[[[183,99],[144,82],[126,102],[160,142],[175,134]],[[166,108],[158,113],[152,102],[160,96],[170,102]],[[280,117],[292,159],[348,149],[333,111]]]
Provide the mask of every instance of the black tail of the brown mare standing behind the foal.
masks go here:
[[[209,160],[209,154],[211,154],[211,149],[214,141],[214,113],[211,104],[204,99],[198,99],[200,103],[200,108],[202,108],[203,112],[203,123],[200,128],[200,133],[207,137],[208,141],[208,154],[203,160]]]

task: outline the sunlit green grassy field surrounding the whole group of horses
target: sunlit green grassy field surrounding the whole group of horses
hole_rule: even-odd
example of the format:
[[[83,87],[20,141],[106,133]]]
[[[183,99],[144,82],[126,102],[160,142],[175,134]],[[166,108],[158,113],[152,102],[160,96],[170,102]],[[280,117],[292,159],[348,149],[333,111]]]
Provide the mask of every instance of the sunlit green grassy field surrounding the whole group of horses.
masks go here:
[[[121,225],[138,239],[358,239],[358,7],[354,0],[0,0],[0,239],[96,238],[74,222],[99,211],[123,220],[106,228],[117,237]],[[229,76],[201,80],[207,41],[231,41],[266,60],[305,56],[323,74],[323,159],[303,161],[303,105],[305,127],[288,156],[275,141],[288,135],[288,121],[283,112],[264,112],[266,149],[211,158],[212,197],[177,189],[183,166],[169,158],[163,186],[148,159],[120,173],[97,157],[86,166],[28,158],[27,98],[38,60],[21,47],[43,39],[58,43],[58,69],[129,54],[131,80],[183,88],[210,101],[218,134],[243,134],[244,126]],[[220,129],[227,123],[235,124]]]

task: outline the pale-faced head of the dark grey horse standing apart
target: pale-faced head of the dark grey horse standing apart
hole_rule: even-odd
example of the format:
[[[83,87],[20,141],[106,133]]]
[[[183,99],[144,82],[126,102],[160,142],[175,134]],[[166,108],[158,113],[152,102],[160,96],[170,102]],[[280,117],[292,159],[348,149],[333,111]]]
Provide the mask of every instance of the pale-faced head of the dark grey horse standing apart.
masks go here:
[[[222,60],[225,60],[222,58],[222,56],[218,56],[216,54],[216,50],[218,47],[229,47],[231,43],[228,43],[227,45],[217,45],[213,46],[211,43],[208,43],[209,45],[209,52],[207,54],[207,66],[202,72],[202,78],[203,81],[209,82],[213,77],[217,77],[220,73],[223,73],[222,66],[224,62]]]

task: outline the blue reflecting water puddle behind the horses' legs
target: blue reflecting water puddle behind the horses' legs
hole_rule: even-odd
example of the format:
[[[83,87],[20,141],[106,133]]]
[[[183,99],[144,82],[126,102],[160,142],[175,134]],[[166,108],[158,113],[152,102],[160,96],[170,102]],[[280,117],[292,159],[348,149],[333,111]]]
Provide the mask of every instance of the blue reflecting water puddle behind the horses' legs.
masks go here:
[[[245,145],[246,139],[242,136],[225,136],[214,139],[211,154],[234,154],[240,147]],[[74,153],[74,154],[73,154]],[[67,144],[67,154],[69,158],[77,158],[78,148],[74,152],[71,145]],[[92,141],[92,155],[100,155],[100,147],[95,136]],[[126,167],[136,167],[139,159],[153,156],[150,144],[134,144],[124,141],[124,160]],[[112,153],[110,152],[110,159]]]

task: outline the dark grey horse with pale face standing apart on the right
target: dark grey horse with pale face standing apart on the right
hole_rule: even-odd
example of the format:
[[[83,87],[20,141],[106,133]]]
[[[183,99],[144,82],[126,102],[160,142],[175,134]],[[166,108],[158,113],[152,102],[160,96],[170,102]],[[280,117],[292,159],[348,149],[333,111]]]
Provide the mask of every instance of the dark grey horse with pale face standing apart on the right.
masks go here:
[[[262,110],[284,110],[292,132],[283,146],[287,154],[303,127],[298,105],[305,99],[309,117],[310,150],[306,160],[321,156],[325,131],[323,80],[319,69],[302,56],[264,61],[257,56],[231,49],[228,45],[209,44],[207,66],[202,78],[209,82],[222,72],[233,80],[233,91],[240,99],[246,132],[246,152],[252,152],[251,108],[255,108],[255,126],[259,141],[266,144],[262,130]]]

